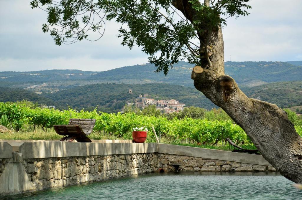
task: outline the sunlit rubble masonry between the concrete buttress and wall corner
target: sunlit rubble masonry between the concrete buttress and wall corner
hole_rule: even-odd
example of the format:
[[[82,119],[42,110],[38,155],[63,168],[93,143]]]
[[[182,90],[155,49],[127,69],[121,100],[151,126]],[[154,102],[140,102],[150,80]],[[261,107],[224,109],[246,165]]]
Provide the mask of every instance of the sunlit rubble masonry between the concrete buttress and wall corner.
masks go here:
[[[155,172],[158,160],[155,154],[124,154],[24,159],[23,165],[40,190]]]

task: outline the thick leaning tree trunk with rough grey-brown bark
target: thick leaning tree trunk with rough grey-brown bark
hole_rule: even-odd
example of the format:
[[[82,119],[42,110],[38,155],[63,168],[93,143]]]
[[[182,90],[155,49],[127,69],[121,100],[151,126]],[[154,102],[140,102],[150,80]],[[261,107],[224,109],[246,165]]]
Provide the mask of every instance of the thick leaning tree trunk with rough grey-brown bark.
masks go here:
[[[173,6],[191,22],[198,13],[191,9],[187,0],[174,0]],[[207,29],[207,27],[200,27]],[[302,138],[297,134],[287,114],[275,104],[247,97],[230,76],[224,74],[224,51],[221,28],[198,33],[199,40],[206,42],[212,62],[201,59],[191,78],[194,86],[214,104],[221,107],[251,138],[262,156],[283,176],[302,183]],[[201,48],[204,48],[201,45]],[[201,57],[204,57],[201,51]]]

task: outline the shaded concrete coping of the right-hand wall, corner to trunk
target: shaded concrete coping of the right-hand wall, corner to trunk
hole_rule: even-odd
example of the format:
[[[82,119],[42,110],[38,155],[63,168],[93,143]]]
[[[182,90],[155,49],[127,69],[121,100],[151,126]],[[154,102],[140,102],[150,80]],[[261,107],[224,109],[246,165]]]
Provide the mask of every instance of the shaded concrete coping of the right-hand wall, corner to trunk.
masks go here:
[[[244,154],[231,151],[222,151],[197,147],[186,147],[172,144],[158,144],[158,153],[202,157],[208,159],[271,166],[271,164],[268,163],[268,161],[265,160],[262,155]]]

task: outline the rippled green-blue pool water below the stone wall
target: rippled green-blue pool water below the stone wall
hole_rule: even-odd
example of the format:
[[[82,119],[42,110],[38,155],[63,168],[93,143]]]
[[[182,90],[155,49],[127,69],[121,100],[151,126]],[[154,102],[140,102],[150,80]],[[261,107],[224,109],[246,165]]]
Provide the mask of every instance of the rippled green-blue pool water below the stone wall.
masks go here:
[[[276,173],[152,173],[0,199],[302,199],[293,184]]]

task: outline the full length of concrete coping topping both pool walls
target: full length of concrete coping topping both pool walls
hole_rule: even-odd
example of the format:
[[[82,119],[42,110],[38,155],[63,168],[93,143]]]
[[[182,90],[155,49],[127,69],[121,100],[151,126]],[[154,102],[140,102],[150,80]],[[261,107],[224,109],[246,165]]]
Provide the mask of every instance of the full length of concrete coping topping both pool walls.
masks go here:
[[[18,151],[19,153],[23,154],[23,158],[25,159],[164,153],[271,166],[271,164],[269,164],[268,161],[262,157],[262,155],[156,143],[79,143],[59,141],[0,142],[0,158],[11,158],[12,151]]]

